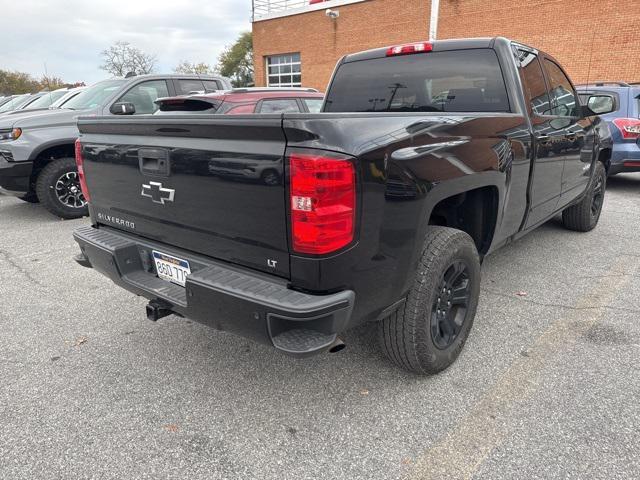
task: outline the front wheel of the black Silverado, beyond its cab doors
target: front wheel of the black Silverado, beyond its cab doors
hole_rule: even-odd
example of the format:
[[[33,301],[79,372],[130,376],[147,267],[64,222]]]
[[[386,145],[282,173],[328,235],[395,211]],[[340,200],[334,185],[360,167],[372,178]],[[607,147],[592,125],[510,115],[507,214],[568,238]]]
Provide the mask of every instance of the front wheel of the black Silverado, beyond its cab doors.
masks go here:
[[[562,212],[562,223],[565,228],[576,232],[593,230],[600,220],[606,189],[607,171],[602,162],[596,162],[595,172],[591,177],[585,196],[580,203],[572,205]]]

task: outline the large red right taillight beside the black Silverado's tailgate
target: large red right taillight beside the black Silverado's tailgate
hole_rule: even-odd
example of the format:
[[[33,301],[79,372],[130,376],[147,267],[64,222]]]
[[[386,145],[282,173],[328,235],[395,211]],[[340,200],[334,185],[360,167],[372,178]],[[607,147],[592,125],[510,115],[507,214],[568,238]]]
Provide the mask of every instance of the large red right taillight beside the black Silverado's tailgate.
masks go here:
[[[323,255],[354,238],[356,174],[353,163],[321,153],[292,153],[290,203],[293,250]]]

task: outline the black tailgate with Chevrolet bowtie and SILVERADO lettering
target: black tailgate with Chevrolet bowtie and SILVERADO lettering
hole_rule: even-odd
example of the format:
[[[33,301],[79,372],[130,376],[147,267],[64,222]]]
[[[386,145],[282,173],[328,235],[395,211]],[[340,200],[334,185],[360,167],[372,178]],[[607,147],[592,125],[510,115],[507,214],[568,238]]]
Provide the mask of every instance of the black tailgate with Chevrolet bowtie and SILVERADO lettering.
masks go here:
[[[281,116],[79,121],[94,223],[289,277]]]

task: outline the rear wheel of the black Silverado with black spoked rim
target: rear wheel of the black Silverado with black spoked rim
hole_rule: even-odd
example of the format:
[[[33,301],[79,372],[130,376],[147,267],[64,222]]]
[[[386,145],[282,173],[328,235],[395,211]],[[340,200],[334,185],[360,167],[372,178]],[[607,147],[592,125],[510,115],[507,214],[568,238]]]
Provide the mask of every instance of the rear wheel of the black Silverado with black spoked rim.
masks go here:
[[[429,227],[405,303],[379,324],[386,355],[409,372],[449,367],[471,331],[480,296],[480,258],[469,235]]]

